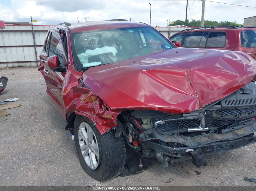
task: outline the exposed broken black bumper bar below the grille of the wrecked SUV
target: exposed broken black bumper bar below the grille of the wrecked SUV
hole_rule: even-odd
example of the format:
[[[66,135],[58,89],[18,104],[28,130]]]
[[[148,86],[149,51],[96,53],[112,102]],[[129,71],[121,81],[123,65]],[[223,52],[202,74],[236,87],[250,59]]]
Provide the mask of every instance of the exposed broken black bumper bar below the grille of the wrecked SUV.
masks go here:
[[[159,153],[175,158],[175,161],[177,161],[177,159],[185,161],[192,158],[193,164],[199,168],[206,165],[204,155],[226,152],[254,144],[256,142],[255,130],[256,124],[253,123],[241,129],[217,135],[208,134],[197,137],[169,136],[168,139],[172,140],[169,142],[188,143],[187,146],[179,148],[172,148],[167,145],[151,142],[152,137],[157,137],[158,135],[154,132],[150,134],[145,134],[146,132],[144,132],[147,140],[143,143]],[[143,139],[142,136],[140,136],[140,138]],[[162,140],[161,138],[159,139]]]

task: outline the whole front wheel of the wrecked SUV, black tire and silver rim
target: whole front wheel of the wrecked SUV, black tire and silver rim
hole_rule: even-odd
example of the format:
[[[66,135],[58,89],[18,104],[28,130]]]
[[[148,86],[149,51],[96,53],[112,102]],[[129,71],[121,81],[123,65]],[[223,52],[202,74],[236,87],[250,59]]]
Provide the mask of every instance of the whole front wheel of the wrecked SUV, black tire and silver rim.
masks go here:
[[[74,123],[75,147],[82,168],[96,180],[118,176],[125,165],[124,136],[115,130],[100,134],[92,121],[77,115]]]

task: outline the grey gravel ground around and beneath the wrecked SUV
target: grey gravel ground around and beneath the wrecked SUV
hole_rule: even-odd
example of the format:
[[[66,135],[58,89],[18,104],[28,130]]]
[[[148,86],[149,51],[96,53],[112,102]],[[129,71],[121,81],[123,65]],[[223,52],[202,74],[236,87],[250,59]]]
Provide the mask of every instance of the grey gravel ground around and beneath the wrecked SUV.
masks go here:
[[[256,177],[256,145],[207,156],[200,169],[191,161],[165,168],[152,160],[138,175],[94,180],[81,168],[66,121],[48,100],[37,68],[0,69],[1,75],[9,81],[0,100],[20,97],[21,106],[6,110],[11,115],[0,122],[0,185],[256,185],[243,180]]]

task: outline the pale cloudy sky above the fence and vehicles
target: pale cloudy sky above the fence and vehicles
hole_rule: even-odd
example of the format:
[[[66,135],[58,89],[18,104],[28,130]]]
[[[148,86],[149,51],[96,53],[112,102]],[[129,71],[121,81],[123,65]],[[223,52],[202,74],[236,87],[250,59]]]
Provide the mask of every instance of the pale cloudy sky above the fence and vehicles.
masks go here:
[[[210,0],[237,5],[256,6],[256,0]],[[0,20],[30,22],[30,15],[37,25],[56,25],[61,22],[99,21],[122,18],[149,24],[167,26],[171,21],[185,20],[186,0],[0,0]],[[202,1],[188,1],[188,19],[201,20]],[[205,2],[205,20],[236,21],[256,15],[256,8]]]

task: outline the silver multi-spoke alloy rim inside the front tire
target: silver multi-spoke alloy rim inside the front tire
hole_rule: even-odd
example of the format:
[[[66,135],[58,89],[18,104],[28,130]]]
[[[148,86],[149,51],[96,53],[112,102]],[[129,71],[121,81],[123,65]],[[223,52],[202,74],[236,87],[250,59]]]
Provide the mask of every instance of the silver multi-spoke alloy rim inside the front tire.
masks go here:
[[[100,162],[99,145],[91,125],[82,122],[78,130],[78,140],[82,156],[92,170],[95,170]]]

